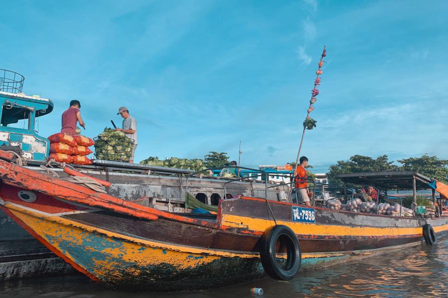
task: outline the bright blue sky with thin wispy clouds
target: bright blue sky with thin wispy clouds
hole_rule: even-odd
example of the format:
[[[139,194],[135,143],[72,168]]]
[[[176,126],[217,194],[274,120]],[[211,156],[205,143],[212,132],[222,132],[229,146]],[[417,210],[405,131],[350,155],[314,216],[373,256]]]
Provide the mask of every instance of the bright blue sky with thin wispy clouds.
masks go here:
[[[294,161],[327,45],[317,128],[302,149],[322,171],[354,154],[448,158],[446,1],[8,1],[0,68],[50,98],[39,134],[72,99],[95,137],[125,105],[135,160],[228,152]]]

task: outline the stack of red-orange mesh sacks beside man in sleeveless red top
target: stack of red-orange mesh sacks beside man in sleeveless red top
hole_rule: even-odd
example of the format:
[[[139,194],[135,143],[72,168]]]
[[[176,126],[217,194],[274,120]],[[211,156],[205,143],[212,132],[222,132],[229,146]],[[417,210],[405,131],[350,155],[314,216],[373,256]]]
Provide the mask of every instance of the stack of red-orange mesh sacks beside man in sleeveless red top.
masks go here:
[[[50,157],[58,162],[75,164],[92,164],[86,155],[92,153],[89,146],[95,142],[87,137],[76,135],[74,137],[65,133],[57,133],[50,137]]]

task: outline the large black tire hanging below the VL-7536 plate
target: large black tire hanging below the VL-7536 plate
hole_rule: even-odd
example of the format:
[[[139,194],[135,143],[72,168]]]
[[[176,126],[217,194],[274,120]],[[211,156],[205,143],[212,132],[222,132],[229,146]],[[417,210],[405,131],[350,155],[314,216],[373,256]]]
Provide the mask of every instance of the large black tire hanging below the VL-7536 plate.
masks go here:
[[[276,244],[286,248],[287,259],[283,268],[276,258]],[[292,229],[283,224],[266,229],[260,239],[260,259],[267,275],[280,281],[293,279],[302,265],[302,250],[299,239]]]

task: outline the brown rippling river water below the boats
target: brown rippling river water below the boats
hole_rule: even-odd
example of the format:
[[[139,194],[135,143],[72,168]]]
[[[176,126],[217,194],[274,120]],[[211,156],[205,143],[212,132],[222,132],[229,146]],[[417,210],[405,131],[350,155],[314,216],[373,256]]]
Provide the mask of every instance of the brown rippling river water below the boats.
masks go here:
[[[360,261],[301,273],[288,282],[265,278],[246,284],[193,293],[123,293],[81,274],[0,282],[0,297],[45,298],[261,298],[297,297],[448,297],[448,236],[435,246],[396,250]]]

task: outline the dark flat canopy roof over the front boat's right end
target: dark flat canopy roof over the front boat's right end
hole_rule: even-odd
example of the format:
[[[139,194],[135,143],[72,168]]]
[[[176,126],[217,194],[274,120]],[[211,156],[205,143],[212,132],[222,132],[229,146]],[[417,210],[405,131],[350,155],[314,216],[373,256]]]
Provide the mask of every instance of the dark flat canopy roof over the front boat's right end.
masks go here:
[[[415,178],[416,189],[429,189],[428,183],[433,179],[426,177],[416,171],[383,171],[383,172],[363,172],[339,174],[337,178],[344,183],[358,185],[371,184],[377,188],[387,189],[413,189],[413,179]]]

